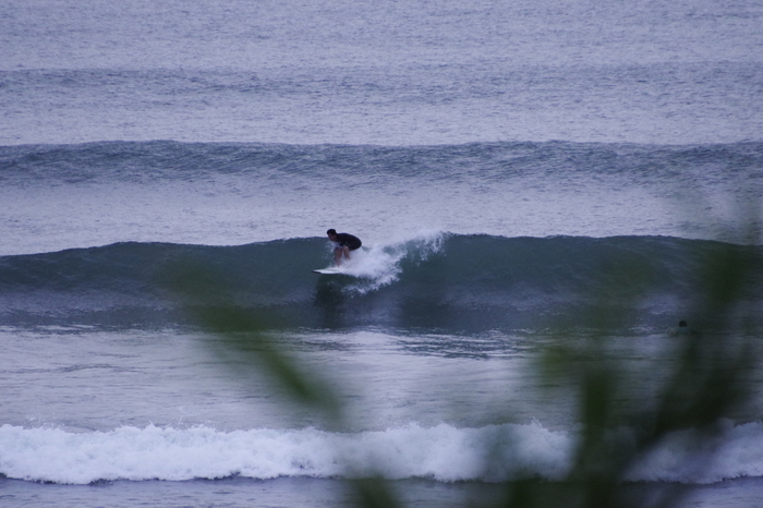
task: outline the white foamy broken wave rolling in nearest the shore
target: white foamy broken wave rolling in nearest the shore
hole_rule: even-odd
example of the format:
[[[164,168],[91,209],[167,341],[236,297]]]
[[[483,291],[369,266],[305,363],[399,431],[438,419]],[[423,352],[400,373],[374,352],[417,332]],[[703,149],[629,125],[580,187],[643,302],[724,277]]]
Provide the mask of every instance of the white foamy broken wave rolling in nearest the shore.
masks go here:
[[[687,431],[688,432],[688,431]],[[706,449],[687,448],[685,433],[669,434],[628,481],[713,483],[760,476],[763,424],[725,428]],[[0,474],[87,484],[110,480],[253,479],[278,476],[412,477],[439,482],[560,480],[571,467],[574,433],[538,423],[456,428],[440,424],[359,434],[314,428],[219,432],[123,426],[110,432],[0,426]],[[715,448],[724,460],[710,460]],[[738,450],[744,450],[739,452]]]

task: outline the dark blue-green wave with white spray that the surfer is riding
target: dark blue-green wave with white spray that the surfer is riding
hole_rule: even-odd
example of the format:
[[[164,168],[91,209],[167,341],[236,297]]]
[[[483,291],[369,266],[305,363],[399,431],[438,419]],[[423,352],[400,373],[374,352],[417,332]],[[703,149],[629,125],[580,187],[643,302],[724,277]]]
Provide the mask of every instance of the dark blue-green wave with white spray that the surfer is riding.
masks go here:
[[[698,309],[729,266],[747,274],[737,298],[763,302],[763,247],[699,240],[433,233],[366,247],[341,275],[311,273],[330,257],[318,238],[4,256],[0,315],[14,326],[190,325],[243,310],[266,328],[713,328],[723,324]]]

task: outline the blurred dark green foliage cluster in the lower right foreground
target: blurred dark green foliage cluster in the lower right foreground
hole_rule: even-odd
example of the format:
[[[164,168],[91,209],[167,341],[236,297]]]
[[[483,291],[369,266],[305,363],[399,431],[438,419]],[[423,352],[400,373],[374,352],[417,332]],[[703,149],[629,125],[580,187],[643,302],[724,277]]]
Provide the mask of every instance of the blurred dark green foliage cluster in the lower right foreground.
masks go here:
[[[748,240],[758,243],[752,237]],[[706,450],[708,443],[713,443],[712,437],[720,431],[722,419],[740,412],[752,400],[751,380],[753,370],[759,366],[758,351],[750,342],[729,339],[749,332],[743,319],[738,319],[739,307],[744,303],[746,282],[761,268],[758,257],[747,256],[743,250],[731,244],[718,249],[705,259],[701,268],[704,292],[692,314],[713,316],[713,322],[723,332],[688,330],[670,337],[679,343],[670,368],[667,368],[669,375],[654,386],[649,400],[626,396],[627,384],[643,373],[629,372],[626,362],[607,354],[605,335],[593,335],[583,341],[561,338],[550,346],[540,364],[545,379],[552,382],[550,386],[578,387],[580,437],[573,465],[567,477],[552,488],[544,482],[511,483],[499,506],[677,506],[681,497],[691,492],[689,485],[665,484],[659,489],[649,489],[646,495],[646,489],[630,488],[632,485],[626,481],[627,473],[677,431],[691,431],[686,434],[690,439],[686,444],[688,450]],[[618,269],[626,274],[631,287],[638,288],[641,281],[650,280],[650,274],[641,267]],[[618,290],[611,288],[613,292]],[[602,315],[594,317],[611,322],[607,294],[600,297]],[[625,436],[617,432],[623,426],[629,430]],[[686,457],[691,457],[691,453]]]

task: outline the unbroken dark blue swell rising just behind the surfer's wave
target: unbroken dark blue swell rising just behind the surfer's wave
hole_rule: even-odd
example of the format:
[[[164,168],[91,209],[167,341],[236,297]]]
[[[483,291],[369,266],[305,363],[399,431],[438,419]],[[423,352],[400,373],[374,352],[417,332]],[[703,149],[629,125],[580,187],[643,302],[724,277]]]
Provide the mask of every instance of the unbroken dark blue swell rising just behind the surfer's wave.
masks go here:
[[[341,185],[348,177],[358,178],[353,183],[379,183],[387,177],[456,182],[475,178],[495,183],[529,174],[562,180],[597,174],[623,183],[657,186],[677,181],[687,186],[704,183],[717,188],[729,181],[758,196],[762,167],[760,142],[501,142],[400,147],[152,141],[0,146],[0,182],[21,188],[204,181],[232,174],[257,178],[262,185],[271,183],[274,178],[283,184],[299,177],[314,179],[324,186],[328,182]]]

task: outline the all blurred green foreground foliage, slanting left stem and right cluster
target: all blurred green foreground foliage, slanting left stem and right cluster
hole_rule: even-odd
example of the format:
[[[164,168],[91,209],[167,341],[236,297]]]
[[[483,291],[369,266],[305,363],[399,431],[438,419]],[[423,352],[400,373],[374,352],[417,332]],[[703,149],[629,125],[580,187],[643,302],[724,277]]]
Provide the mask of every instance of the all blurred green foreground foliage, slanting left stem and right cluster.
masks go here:
[[[754,217],[751,217],[751,223]],[[759,243],[750,238],[750,243]],[[504,496],[489,504],[505,508],[673,508],[690,485],[664,484],[659,488],[639,489],[627,482],[627,473],[650,452],[664,445],[671,433],[691,430],[688,449],[705,449],[719,432],[719,422],[739,411],[751,400],[750,375],[758,366],[758,352],[744,341],[727,340],[746,334],[742,288],[750,274],[759,274],[758,257],[728,245],[718,249],[702,267],[704,294],[698,299],[692,316],[713,316],[723,334],[677,335],[666,340],[677,342],[675,355],[651,386],[645,399],[627,394],[629,384],[643,372],[630,372],[629,365],[608,350],[608,337],[592,334],[580,340],[567,340],[564,334],[545,349],[537,364],[543,385],[569,388],[578,397],[579,440],[567,477],[558,482],[526,479],[506,485]],[[601,305],[594,322],[607,329],[618,319],[607,304],[613,295],[638,299],[645,293],[652,274],[643,264],[613,267],[610,291],[598,295]],[[344,415],[339,398],[315,373],[298,366],[294,358],[276,347],[265,332],[263,320],[251,312],[225,304],[226,289],[217,287],[215,277],[204,266],[178,265],[173,275],[182,280],[174,290],[184,298],[198,322],[223,339],[232,351],[254,352],[264,371],[276,378],[292,401],[313,408],[339,425]],[[193,307],[194,302],[209,300],[215,293],[218,305]],[[634,307],[638,302],[633,302]],[[742,319],[739,319],[742,316]],[[683,316],[681,316],[683,317]],[[749,342],[747,342],[749,343]],[[554,388],[547,388],[553,390]],[[550,394],[550,403],[557,395]],[[506,403],[510,404],[510,400]],[[622,432],[627,428],[628,432]],[[691,453],[687,453],[691,457]],[[687,459],[691,460],[691,459]],[[486,464],[486,468],[489,464]],[[392,508],[401,506],[392,484],[380,477],[348,481],[360,506]],[[484,503],[483,503],[484,505]]]

